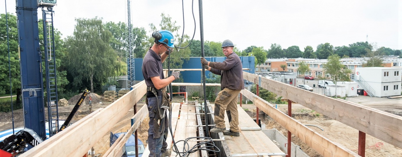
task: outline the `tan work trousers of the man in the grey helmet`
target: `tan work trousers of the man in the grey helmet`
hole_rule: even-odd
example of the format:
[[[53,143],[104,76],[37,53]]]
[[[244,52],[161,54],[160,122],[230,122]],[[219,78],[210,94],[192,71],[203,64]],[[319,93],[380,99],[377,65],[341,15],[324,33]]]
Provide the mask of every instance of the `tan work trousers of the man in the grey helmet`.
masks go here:
[[[239,113],[237,111],[237,96],[241,90],[225,88],[215,99],[214,123],[218,128],[226,128],[225,111],[228,114],[230,130],[239,132]]]

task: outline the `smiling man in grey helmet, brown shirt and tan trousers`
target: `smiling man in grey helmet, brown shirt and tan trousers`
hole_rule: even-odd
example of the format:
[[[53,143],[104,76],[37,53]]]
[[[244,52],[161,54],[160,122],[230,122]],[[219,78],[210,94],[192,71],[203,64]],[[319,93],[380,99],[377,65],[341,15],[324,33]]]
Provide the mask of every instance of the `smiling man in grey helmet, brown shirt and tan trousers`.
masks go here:
[[[237,111],[238,94],[244,89],[243,66],[240,57],[233,52],[230,40],[222,42],[222,52],[226,56],[223,62],[211,62],[201,57],[205,69],[221,75],[221,91],[215,99],[214,123],[211,133],[224,132],[224,135],[240,136],[239,114]],[[230,130],[226,130],[225,111],[228,114]]]

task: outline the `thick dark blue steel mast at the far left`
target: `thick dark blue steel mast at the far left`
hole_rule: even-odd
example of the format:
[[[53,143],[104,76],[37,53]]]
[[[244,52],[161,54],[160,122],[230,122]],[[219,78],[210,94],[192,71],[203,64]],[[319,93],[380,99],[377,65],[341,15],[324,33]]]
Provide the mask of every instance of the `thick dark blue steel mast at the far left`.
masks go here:
[[[38,30],[39,21],[38,21],[37,9],[38,6],[46,6],[46,7],[50,6],[51,8],[51,6],[55,5],[55,2],[56,0],[16,0],[18,53],[20,55],[21,92],[23,100],[24,125],[25,128],[30,128],[33,131],[35,131],[35,133],[37,133],[37,135],[39,135],[41,139],[46,139],[46,128],[45,128],[45,110],[43,103],[44,86],[42,81],[43,79],[42,53],[39,47],[39,30]],[[45,26],[47,25],[44,24],[43,27]],[[53,24],[51,24],[51,27],[52,27],[51,31],[53,31]],[[53,33],[51,34],[53,35]],[[53,42],[53,39],[51,39],[50,41]],[[51,45],[52,49],[53,45]],[[45,48],[45,51],[46,49],[47,48]],[[44,54],[47,55],[47,53]],[[45,56],[45,58],[48,57]],[[48,62],[46,62],[46,64],[49,65]],[[50,66],[51,63],[49,67]],[[45,68],[47,67],[45,66]],[[48,69],[49,68],[47,68],[46,70]],[[49,71],[46,71],[47,75],[51,73]],[[49,77],[52,76],[49,75]],[[54,77],[55,77],[55,71],[54,71]],[[46,84],[49,85],[50,80],[48,79],[49,78],[47,78]],[[47,90],[50,89],[52,89],[52,87],[47,88]],[[50,93],[51,92],[47,93],[48,100],[49,97],[51,97]],[[55,99],[57,100],[57,96]],[[55,103],[57,103],[57,101]],[[48,102],[47,104],[51,103]],[[52,118],[50,117],[48,119],[51,120]],[[49,127],[49,129],[50,128],[51,127]]]

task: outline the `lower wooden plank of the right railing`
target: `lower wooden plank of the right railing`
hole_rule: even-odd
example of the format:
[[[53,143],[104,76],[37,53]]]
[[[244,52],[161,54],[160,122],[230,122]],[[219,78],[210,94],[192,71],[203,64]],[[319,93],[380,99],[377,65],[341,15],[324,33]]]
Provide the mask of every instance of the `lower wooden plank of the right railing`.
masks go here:
[[[341,146],[336,145],[329,139],[326,139],[322,135],[316,133],[314,130],[304,126],[295,119],[287,116],[285,113],[274,108],[267,101],[262,98],[252,94],[248,90],[242,90],[241,93],[250,100],[253,100],[254,105],[260,108],[263,112],[268,114],[276,122],[281,124],[284,128],[293,133],[301,141],[306,143],[312,149],[316,150],[324,157],[358,157],[353,151]]]

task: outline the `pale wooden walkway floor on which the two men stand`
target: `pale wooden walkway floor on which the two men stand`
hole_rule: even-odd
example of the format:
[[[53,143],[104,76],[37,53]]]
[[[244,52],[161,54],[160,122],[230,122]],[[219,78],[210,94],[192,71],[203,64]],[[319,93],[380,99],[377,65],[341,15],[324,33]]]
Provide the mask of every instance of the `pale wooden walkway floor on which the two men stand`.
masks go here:
[[[213,104],[211,104],[213,106]],[[172,132],[174,133],[174,141],[185,140],[189,137],[197,136],[196,122],[196,107],[182,105],[174,103],[172,108]],[[213,107],[212,107],[213,108]],[[250,116],[238,106],[239,112],[239,126],[240,136],[230,137],[225,136],[222,133],[219,135],[222,137],[229,147],[230,154],[234,157],[246,156],[246,157],[282,157],[285,156],[273,141],[271,141],[262,131],[261,128],[252,120]],[[179,115],[180,114],[180,115]],[[225,115],[226,128],[229,129],[229,122],[227,115]],[[168,139],[168,148],[172,149],[172,138],[170,133]],[[197,142],[192,141],[189,143],[190,147]],[[178,149],[183,148],[183,142],[177,144]],[[172,149],[173,150],[173,149]],[[222,150],[221,150],[222,151]],[[143,154],[144,157],[149,155],[148,146]],[[172,151],[171,157],[175,157],[176,153]],[[190,157],[199,157],[200,152],[191,153]]]

